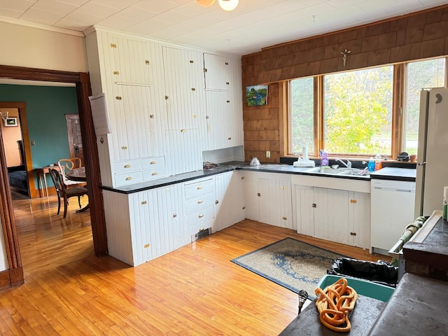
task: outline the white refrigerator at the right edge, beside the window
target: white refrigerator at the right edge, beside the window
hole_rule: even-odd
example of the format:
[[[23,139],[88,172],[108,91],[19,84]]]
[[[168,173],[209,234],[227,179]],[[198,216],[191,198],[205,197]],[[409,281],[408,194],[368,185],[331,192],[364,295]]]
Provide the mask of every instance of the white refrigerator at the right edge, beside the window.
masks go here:
[[[442,210],[448,186],[448,89],[421,90],[414,217]]]

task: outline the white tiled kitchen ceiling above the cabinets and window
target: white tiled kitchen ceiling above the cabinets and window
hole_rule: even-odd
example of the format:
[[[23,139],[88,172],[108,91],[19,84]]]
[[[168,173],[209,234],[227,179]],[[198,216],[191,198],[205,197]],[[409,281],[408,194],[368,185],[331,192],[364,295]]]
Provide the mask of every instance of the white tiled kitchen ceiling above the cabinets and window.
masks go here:
[[[447,0],[239,0],[227,12],[195,0],[0,0],[0,20],[85,31],[96,25],[203,50],[263,47],[412,13]]]

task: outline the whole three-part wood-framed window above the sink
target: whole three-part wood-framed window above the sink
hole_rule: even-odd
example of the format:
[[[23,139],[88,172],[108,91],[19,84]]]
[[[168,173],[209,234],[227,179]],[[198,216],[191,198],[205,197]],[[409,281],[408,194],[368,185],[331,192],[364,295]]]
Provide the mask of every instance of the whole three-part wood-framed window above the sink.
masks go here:
[[[416,154],[421,88],[446,87],[446,68],[439,58],[290,80],[288,153]]]

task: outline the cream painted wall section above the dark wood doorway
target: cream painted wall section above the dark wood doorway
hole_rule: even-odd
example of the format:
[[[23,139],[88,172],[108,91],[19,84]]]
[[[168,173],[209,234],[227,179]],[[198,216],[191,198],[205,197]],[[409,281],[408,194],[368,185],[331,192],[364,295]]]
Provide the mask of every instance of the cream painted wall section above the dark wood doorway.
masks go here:
[[[0,22],[0,64],[87,72],[85,39],[37,27]],[[67,31],[69,32],[69,31]]]

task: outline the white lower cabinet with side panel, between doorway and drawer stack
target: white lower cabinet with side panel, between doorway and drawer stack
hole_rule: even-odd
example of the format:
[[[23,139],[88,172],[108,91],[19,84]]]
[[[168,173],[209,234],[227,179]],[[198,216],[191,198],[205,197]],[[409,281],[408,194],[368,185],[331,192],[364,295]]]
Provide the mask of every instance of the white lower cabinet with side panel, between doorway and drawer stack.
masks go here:
[[[137,266],[181,247],[181,186],[129,195],[104,190],[109,255]]]

